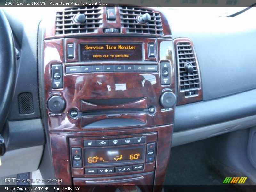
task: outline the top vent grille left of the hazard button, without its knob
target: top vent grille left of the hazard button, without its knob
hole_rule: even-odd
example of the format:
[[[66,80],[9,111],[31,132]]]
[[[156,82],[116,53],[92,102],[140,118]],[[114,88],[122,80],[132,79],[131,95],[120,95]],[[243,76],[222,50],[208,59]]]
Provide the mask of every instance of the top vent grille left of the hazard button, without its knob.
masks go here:
[[[75,23],[73,18],[77,14],[84,14],[84,23]],[[100,7],[71,7],[56,15],[56,35],[97,33],[102,27],[102,8]]]

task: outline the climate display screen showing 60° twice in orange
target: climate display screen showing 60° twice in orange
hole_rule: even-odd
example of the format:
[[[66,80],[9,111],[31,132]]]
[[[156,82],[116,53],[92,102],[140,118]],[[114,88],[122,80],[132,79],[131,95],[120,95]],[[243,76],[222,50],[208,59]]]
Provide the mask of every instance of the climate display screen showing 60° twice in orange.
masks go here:
[[[143,149],[143,147],[84,149],[85,165],[141,160]]]

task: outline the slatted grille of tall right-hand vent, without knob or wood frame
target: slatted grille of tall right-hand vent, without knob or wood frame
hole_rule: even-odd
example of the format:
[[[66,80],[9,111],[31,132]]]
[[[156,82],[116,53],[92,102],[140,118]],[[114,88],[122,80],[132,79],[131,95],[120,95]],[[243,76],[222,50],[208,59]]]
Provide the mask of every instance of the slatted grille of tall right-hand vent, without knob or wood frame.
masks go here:
[[[198,75],[195,54],[190,42],[177,43],[177,60],[180,76],[180,90],[195,90],[200,88],[200,78]],[[191,73],[185,69],[185,64],[190,64],[194,68]]]

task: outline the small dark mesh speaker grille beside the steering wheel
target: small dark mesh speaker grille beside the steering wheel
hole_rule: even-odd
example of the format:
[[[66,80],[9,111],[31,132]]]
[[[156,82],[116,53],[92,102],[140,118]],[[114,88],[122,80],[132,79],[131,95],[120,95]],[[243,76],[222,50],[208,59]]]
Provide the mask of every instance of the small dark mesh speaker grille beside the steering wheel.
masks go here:
[[[20,114],[34,113],[33,96],[31,93],[21,93],[18,98]]]

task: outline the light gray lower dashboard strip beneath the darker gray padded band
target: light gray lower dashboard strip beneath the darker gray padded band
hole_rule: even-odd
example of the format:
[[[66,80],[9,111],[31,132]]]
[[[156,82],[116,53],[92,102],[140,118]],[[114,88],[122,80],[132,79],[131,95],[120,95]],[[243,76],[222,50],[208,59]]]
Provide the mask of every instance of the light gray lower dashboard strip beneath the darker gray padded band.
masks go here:
[[[227,132],[246,129],[256,125],[256,115],[244,117],[224,123],[204,126],[188,131],[174,132],[172,136],[172,147],[207,139]]]

